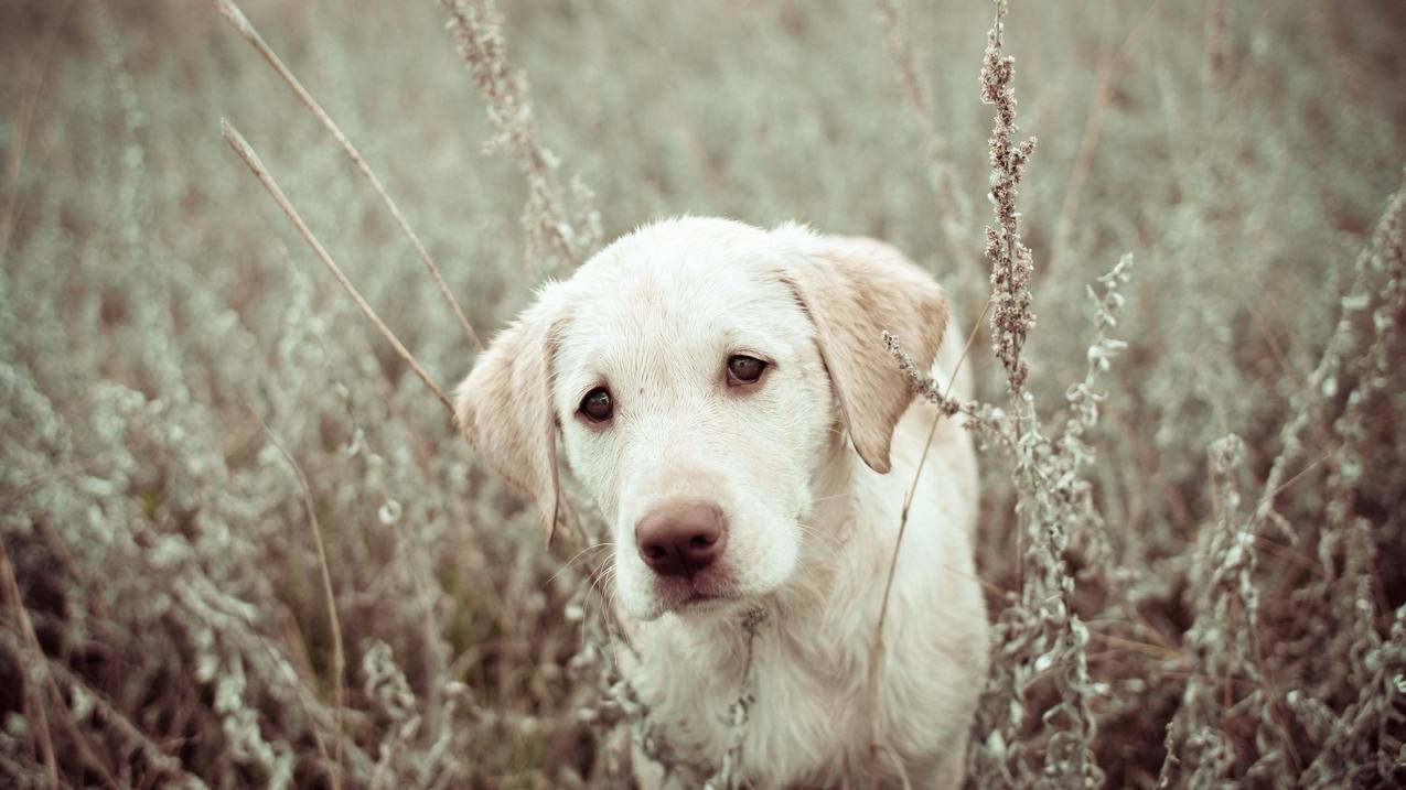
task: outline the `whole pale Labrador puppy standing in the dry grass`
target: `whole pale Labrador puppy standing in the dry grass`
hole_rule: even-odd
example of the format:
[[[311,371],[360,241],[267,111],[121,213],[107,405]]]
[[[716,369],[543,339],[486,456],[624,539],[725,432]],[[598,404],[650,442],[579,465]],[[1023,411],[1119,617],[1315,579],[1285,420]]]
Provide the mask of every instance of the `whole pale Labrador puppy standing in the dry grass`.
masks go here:
[[[599,506],[617,659],[681,759],[721,765],[751,651],[752,786],[962,782],[987,666],[976,458],[882,340],[943,380],[946,325],[938,284],[883,243],[669,219],[546,285],[460,384],[460,427],[548,536],[571,517],[558,444]]]

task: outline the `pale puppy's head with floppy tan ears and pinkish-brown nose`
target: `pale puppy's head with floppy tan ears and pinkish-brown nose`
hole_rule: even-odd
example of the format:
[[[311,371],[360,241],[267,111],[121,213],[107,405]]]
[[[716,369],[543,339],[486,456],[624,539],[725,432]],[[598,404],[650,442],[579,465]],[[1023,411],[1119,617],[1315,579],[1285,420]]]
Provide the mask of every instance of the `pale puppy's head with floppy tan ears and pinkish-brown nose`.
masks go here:
[[[610,524],[627,613],[717,609],[796,572],[844,436],[889,471],[911,394],[882,333],[927,368],[946,318],[932,278],[882,245],[659,222],[543,288],[460,384],[456,417],[548,537],[567,513],[560,437]]]

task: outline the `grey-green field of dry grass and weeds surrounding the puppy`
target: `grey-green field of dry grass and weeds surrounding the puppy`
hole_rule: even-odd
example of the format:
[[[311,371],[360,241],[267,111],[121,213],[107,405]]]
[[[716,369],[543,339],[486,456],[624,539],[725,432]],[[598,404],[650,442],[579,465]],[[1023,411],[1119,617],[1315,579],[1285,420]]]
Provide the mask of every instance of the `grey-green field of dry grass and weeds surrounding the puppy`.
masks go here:
[[[1019,268],[986,252],[988,1],[489,8],[243,3],[485,339],[678,214],[889,240],[953,336]],[[1022,395],[983,322],[955,405],[997,624],[973,786],[1406,783],[1402,41],[1368,0],[1012,3],[1038,322]],[[581,545],[543,550],[226,146],[432,377],[470,370],[215,3],[6,3],[0,75],[0,784],[626,782]]]

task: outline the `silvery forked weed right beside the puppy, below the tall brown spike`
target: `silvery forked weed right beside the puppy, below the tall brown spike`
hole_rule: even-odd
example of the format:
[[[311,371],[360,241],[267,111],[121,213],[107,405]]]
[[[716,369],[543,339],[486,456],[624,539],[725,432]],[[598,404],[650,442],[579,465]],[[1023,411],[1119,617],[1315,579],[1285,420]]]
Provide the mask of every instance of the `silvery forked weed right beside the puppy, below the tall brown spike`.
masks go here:
[[[972,776],[983,787],[1039,782],[1097,786],[1104,777],[1092,752],[1097,724],[1091,710],[1095,686],[1085,655],[1090,631],[1074,610],[1076,578],[1066,555],[1078,551],[1092,561],[1099,582],[1121,588],[1107,566],[1111,550],[1105,524],[1085,479],[1085,468],[1097,454],[1084,436],[1097,427],[1098,403],[1105,396],[1097,389],[1098,377],[1123,347],[1108,330],[1116,325],[1115,311],[1122,304],[1118,288],[1129,281],[1130,268],[1132,257],[1125,256],[1098,278],[1102,294],[1088,290],[1097,335],[1088,347],[1084,380],[1066,395],[1069,417],[1056,437],[1043,433],[1029,392],[1015,401],[1014,417],[988,403],[956,401],[917,368],[891,335],[884,336],[917,394],[949,416],[960,415],[984,446],[1004,451],[1018,493],[1015,509],[1025,524],[1019,595],[1007,602],[995,623],[997,658],[977,723],[981,739],[970,755]],[[1053,704],[1031,700],[1035,694],[1049,699],[1050,692]],[[1035,734],[1029,731],[1032,714],[1040,723]],[[1032,748],[1039,751],[1032,753]]]

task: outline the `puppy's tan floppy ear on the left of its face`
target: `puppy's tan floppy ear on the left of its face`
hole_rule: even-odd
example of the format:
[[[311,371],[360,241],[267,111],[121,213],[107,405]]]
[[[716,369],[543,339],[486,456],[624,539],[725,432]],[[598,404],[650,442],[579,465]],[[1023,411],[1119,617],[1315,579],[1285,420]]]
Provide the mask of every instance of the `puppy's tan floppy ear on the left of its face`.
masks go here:
[[[454,422],[484,461],[541,513],[547,543],[574,516],[557,481],[551,360],[561,311],[550,291],[498,333],[454,391]]]

